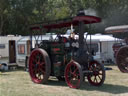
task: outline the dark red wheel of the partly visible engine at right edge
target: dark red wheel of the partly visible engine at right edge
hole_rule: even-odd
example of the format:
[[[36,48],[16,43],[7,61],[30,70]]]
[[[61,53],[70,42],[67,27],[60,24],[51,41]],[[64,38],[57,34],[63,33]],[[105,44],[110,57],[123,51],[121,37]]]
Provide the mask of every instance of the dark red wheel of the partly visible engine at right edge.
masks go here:
[[[121,72],[128,73],[128,46],[119,49],[116,55],[116,63]]]

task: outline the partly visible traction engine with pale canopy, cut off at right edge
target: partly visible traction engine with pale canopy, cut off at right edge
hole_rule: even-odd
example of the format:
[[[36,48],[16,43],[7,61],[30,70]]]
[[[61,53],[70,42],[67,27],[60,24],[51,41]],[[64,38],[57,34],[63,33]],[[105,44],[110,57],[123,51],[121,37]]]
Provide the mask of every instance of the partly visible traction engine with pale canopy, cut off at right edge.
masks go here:
[[[116,64],[121,72],[128,73],[128,25],[112,26],[105,29],[106,33],[111,33],[115,37],[121,38],[122,43],[114,46]]]

